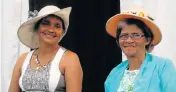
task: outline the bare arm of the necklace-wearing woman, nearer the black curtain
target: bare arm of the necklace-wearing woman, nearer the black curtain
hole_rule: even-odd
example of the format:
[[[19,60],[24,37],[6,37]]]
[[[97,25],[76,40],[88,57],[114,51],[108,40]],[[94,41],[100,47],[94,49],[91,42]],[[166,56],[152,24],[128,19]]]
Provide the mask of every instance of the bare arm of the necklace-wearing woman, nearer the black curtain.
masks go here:
[[[66,92],[81,92],[83,72],[78,56],[67,51],[64,55]]]

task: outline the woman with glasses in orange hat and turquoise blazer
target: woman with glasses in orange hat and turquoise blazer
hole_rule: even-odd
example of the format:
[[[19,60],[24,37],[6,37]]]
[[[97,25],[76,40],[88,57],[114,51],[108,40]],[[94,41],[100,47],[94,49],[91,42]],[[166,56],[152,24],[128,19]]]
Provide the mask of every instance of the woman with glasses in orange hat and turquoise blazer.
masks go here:
[[[153,18],[141,7],[133,6],[111,17],[106,31],[127,57],[108,75],[106,92],[176,92],[172,61],[149,54],[162,35]]]

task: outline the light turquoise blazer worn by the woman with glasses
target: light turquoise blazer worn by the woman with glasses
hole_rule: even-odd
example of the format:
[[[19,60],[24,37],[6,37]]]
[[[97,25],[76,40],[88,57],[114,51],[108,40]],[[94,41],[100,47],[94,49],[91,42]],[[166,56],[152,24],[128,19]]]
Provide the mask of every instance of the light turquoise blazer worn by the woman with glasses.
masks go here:
[[[117,92],[128,61],[116,66],[105,81],[105,92]],[[133,92],[176,92],[176,68],[172,61],[146,53]]]

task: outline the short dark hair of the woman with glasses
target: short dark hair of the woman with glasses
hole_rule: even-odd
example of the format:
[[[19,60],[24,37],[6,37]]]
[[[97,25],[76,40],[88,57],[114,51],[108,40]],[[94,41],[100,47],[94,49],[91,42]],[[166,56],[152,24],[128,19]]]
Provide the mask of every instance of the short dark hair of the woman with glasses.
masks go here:
[[[150,43],[148,45],[146,45],[146,47],[145,47],[145,49],[148,51],[149,48],[152,46],[151,42],[153,40],[153,33],[151,32],[150,28],[143,21],[138,20],[138,19],[128,18],[128,19],[125,19],[125,20],[123,20],[122,22],[119,23],[119,25],[117,27],[117,33],[116,33],[117,43],[119,44],[119,35],[121,34],[122,25],[124,23],[127,24],[127,25],[136,25],[138,28],[140,28],[142,30],[142,32],[144,33],[145,38],[147,40],[150,40]]]

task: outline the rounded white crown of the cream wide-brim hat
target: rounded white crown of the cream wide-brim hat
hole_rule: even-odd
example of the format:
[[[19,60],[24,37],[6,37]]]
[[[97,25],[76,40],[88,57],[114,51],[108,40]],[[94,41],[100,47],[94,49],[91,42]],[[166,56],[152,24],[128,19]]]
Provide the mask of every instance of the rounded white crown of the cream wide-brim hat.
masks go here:
[[[43,16],[43,15],[48,15],[51,13],[54,13],[56,11],[60,11],[60,8],[56,7],[56,6],[45,6],[44,8],[42,8],[39,13],[38,16]]]

